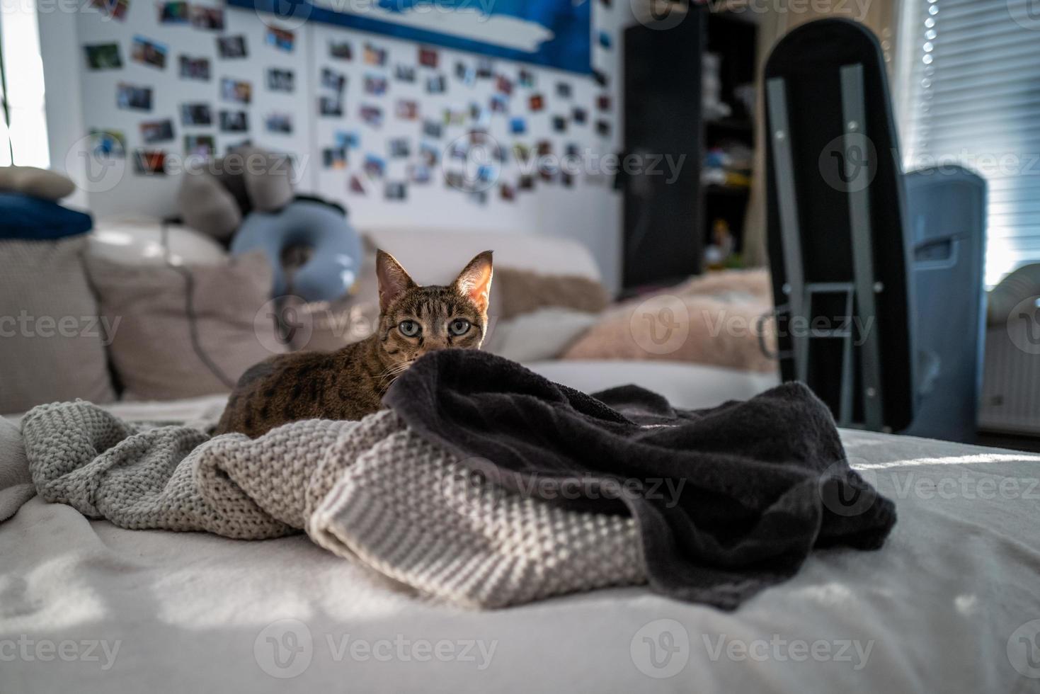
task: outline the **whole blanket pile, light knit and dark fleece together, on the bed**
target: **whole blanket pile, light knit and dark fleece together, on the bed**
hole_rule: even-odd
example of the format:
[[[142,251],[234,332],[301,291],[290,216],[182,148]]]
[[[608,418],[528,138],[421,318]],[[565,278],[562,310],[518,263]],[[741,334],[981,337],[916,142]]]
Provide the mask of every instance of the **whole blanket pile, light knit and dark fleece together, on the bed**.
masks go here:
[[[35,408],[22,434],[38,493],[89,517],[238,539],[305,530],[405,587],[478,608],[649,581],[733,609],[813,547],[874,548],[894,522],[802,386],[703,412],[634,387],[601,397],[449,350],[360,422],[210,438],[76,402]]]

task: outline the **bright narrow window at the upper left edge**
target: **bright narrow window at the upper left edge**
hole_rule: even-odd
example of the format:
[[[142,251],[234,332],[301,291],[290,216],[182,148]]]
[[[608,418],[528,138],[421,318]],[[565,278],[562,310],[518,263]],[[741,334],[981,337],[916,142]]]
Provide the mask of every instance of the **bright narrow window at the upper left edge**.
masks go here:
[[[0,165],[46,169],[44,63],[33,0],[0,2]]]

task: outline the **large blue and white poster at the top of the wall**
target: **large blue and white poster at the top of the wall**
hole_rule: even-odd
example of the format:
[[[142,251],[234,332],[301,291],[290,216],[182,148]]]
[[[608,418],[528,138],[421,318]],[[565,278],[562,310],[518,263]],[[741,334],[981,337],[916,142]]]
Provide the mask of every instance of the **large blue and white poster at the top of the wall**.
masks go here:
[[[228,0],[288,21],[323,22],[510,60],[592,72],[591,0]]]

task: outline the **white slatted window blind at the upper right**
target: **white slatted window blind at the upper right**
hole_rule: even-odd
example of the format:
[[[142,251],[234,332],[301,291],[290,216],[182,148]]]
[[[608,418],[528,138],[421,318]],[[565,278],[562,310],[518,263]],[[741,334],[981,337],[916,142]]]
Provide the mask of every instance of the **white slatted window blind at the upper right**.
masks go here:
[[[987,180],[987,286],[1040,262],[1040,1],[906,0],[900,61],[905,169]]]

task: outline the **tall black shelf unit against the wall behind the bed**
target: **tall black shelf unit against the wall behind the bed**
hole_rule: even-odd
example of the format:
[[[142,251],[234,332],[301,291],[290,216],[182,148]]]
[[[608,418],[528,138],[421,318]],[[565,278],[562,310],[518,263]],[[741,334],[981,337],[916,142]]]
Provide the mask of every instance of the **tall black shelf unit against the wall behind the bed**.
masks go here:
[[[628,291],[700,273],[711,222],[720,216],[740,247],[747,189],[702,186],[701,169],[706,146],[726,138],[754,142],[752,114],[740,106],[735,89],[754,81],[755,34],[748,21],[694,5],[677,26],[625,30],[623,155],[685,157],[672,183],[664,175],[621,181],[622,284]],[[705,51],[721,56],[721,97],[733,107],[730,117],[713,121],[705,121],[702,111]]]

